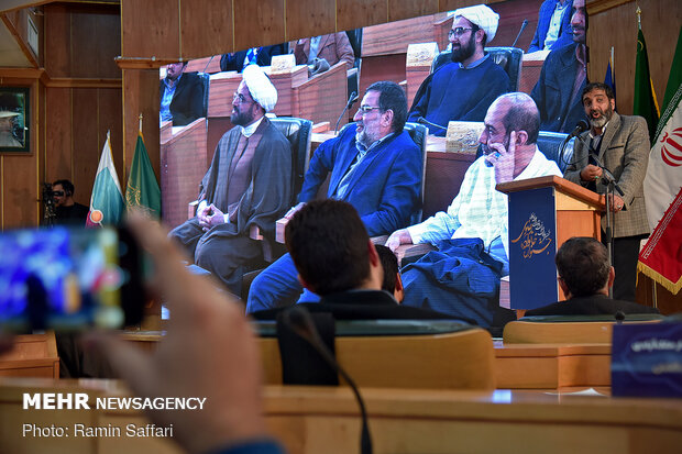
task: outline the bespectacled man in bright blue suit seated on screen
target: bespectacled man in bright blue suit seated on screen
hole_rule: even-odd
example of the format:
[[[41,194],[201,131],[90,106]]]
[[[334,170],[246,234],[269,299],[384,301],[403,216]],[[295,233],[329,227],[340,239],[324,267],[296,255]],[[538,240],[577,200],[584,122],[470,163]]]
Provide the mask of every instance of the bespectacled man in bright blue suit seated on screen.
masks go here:
[[[407,101],[394,82],[372,84],[355,113],[355,124],[321,144],[305,177],[299,204],[316,198],[331,173],[327,197],[351,203],[360,213],[371,236],[386,235],[409,223],[419,209],[422,155],[407,131]],[[246,312],[290,306],[302,286],[296,267],[285,254],[253,281]],[[307,300],[317,300],[306,294]]]

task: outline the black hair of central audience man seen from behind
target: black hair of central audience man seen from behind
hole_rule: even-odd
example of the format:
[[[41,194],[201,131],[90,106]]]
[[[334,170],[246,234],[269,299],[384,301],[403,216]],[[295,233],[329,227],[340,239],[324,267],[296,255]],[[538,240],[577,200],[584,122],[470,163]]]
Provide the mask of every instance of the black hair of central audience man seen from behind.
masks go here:
[[[370,235],[350,203],[307,203],[287,223],[285,237],[298,274],[318,295],[358,288],[370,277]]]

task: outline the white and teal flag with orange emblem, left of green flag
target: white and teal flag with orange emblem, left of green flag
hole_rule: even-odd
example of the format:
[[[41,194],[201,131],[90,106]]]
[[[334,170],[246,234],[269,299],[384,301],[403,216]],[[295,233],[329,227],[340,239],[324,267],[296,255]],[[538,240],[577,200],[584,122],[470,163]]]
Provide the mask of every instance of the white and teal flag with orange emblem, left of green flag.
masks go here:
[[[90,212],[86,226],[116,225],[121,221],[123,210],[123,193],[119,176],[113,167],[111,143],[109,131],[107,131],[107,141],[97,167],[92,196],[90,196]]]

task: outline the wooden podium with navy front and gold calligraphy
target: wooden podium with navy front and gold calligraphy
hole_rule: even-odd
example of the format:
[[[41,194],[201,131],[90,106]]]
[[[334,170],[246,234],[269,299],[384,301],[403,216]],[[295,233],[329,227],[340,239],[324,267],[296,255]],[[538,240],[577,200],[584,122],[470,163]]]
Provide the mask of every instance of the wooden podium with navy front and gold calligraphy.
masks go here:
[[[604,198],[561,177],[497,185],[509,196],[512,309],[534,309],[563,299],[554,256],[571,236],[601,237]]]

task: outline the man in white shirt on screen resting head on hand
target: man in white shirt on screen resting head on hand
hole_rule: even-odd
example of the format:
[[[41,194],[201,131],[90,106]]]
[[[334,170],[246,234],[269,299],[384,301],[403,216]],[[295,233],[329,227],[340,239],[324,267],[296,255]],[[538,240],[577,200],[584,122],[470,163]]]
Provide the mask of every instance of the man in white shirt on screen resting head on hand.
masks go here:
[[[561,171],[536,145],[540,117],[528,95],[501,96],[484,123],[479,140],[484,156],[466,170],[448,212],[394,232],[386,245],[392,251],[411,243],[439,247],[403,270],[404,304],[490,326],[498,308],[499,278],[509,274],[507,196],[495,186]]]

